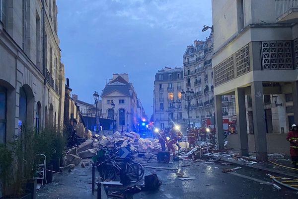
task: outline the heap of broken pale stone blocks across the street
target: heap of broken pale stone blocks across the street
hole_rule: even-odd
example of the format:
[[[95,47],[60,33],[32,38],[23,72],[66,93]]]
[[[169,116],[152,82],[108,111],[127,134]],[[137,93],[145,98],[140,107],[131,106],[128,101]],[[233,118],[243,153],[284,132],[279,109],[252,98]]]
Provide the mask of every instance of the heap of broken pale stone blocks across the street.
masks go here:
[[[154,138],[140,138],[135,132],[116,131],[111,136],[95,134],[80,144],[78,147],[69,149],[66,156],[67,164],[79,165],[85,158],[91,158],[102,147],[129,146],[133,153],[149,153],[160,148],[158,140]]]

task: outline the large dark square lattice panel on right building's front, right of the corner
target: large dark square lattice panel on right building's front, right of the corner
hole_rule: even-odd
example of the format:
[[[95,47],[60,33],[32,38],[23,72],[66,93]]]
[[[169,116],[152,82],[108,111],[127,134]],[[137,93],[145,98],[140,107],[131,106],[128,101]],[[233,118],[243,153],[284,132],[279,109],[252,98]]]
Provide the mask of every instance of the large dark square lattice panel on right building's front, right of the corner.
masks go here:
[[[263,41],[263,70],[293,69],[292,41]]]

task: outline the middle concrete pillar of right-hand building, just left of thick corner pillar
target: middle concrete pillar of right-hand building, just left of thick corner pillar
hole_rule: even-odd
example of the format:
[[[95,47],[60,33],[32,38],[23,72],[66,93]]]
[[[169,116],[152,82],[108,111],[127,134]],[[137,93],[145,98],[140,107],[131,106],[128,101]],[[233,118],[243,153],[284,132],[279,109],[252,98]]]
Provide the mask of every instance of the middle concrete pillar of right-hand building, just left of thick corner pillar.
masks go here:
[[[236,88],[235,106],[237,115],[237,132],[240,155],[249,156],[244,88]]]

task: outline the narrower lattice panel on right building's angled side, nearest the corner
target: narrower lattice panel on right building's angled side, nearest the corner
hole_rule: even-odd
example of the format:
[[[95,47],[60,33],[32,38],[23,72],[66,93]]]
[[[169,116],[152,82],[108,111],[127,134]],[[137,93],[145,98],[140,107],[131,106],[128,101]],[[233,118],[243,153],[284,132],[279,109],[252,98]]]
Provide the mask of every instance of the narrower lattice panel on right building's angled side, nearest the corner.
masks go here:
[[[237,77],[250,71],[248,45],[235,53]]]

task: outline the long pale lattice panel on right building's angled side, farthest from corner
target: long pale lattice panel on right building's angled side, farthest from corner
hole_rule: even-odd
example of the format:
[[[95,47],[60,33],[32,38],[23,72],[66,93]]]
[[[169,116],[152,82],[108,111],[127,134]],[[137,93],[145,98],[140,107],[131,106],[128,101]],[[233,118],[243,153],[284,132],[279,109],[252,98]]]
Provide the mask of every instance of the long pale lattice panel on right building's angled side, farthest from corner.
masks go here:
[[[233,55],[225,59],[214,68],[215,86],[219,86],[234,79]]]

